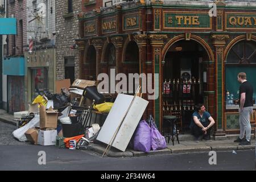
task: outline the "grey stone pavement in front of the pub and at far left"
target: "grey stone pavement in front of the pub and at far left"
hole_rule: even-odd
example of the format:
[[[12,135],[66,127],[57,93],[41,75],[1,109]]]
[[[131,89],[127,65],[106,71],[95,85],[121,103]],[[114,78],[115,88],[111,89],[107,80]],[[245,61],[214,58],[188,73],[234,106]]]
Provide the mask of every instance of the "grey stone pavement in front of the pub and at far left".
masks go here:
[[[8,114],[5,110],[0,109],[0,122],[9,123],[16,126],[16,122],[13,120],[13,115]],[[175,141],[174,146],[172,143],[167,143],[167,148],[164,150],[150,151],[149,153],[134,151],[129,148],[125,152],[121,152],[114,147],[109,152],[109,157],[134,157],[134,156],[147,156],[147,155],[158,155],[158,154],[180,154],[180,153],[191,153],[191,152],[208,152],[208,151],[240,151],[240,150],[255,150],[255,140],[251,140],[250,146],[238,146],[238,143],[234,143],[233,140],[238,135],[230,135],[228,140],[212,140],[211,142],[195,142],[192,140],[191,135],[180,135],[180,144]],[[106,144],[95,144],[92,143],[89,150],[102,155],[106,149]]]

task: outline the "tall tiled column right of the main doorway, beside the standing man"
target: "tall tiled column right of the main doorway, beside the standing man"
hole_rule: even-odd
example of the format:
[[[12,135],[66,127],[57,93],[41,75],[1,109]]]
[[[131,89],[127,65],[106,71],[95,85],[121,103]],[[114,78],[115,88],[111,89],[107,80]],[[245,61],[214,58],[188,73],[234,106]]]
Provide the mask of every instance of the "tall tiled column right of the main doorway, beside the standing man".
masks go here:
[[[229,39],[229,35],[215,34],[212,35],[213,46],[215,48],[215,105],[216,105],[216,131],[214,133],[215,140],[221,140],[226,138],[224,131],[224,47],[226,40]]]

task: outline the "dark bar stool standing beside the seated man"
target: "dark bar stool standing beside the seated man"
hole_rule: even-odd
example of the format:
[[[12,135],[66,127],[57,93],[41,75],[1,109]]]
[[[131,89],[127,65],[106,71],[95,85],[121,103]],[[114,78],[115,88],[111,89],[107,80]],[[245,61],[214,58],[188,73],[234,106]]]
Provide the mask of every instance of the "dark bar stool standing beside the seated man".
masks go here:
[[[176,121],[177,117],[175,115],[164,115],[163,117],[163,135],[164,138],[168,138],[168,143],[170,139],[172,140],[172,145],[174,146],[175,137],[177,138],[177,142],[179,141],[179,131],[176,130]],[[164,133],[164,128],[167,128],[167,133]]]

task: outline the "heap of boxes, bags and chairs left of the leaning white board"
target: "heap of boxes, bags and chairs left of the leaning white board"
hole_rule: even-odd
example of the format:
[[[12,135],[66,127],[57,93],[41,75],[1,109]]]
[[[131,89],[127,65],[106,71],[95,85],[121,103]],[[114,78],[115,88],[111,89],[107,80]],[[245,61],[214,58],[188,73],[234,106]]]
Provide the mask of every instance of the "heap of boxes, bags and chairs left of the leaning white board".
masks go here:
[[[66,82],[56,84],[58,93],[44,92],[27,111],[14,113],[16,139],[70,149],[84,148],[93,142],[100,131],[96,122],[104,122],[99,118],[106,118],[113,103],[106,102],[104,95],[98,93],[95,81],[77,79],[69,86]],[[97,119],[98,114],[103,117]]]

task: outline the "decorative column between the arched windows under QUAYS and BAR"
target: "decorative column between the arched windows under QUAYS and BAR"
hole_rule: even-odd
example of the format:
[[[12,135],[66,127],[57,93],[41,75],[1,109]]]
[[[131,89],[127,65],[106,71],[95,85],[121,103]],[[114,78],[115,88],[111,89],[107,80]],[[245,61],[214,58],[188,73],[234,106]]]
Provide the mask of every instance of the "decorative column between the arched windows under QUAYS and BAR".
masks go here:
[[[122,52],[123,52],[123,37],[114,36],[111,38],[111,42],[115,46],[115,60],[116,60],[116,69],[115,73],[122,72]]]

